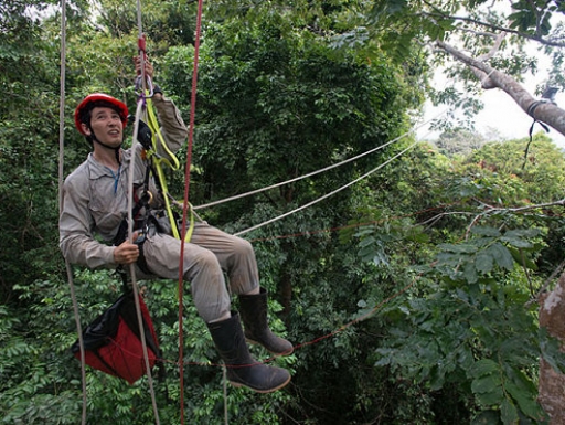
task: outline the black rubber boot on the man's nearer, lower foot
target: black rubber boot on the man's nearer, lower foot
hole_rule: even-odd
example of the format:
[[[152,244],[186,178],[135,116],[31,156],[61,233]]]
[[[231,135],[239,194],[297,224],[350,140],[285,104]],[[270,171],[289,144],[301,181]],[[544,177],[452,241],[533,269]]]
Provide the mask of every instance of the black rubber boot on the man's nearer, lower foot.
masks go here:
[[[236,312],[232,312],[230,319],[207,323],[207,328],[224,360],[232,385],[245,385],[258,393],[270,393],[290,382],[290,373],[286,369],[259,363],[249,354]]]

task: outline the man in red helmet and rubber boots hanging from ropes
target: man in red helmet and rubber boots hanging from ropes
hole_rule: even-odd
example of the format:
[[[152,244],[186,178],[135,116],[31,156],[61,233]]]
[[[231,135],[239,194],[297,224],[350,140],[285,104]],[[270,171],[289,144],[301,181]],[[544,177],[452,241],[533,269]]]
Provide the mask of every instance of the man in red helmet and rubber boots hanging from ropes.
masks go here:
[[[139,74],[140,61],[136,59],[135,62]],[[151,64],[145,63],[146,75],[152,77]],[[175,152],[186,139],[186,126],[174,104],[159,88],[156,88],[152,100],[167,146]],[[136,275],[140,278],[175,279],[179,277],[181,241],[163,232],[154,221],[149,221],[143,229],[136,229],[132,238],[136,241],[142,232],[142,243],[130,243],[127,237],[116,242],[120,224],[128,216],[128,179],[134,156],[135,192],[145,185],[147,171],[141,144],[134,144],[130,149],[121,147],[127,117],[124,103],[100,93],[86,96],[76,108],[76,128],[92,145],[92,152],[65,180],[60,246],[73,264],[90,268],[135,264]],[[148,189],[153,199],[139,211],[140,215],[162,209],[162,199],[159,199],[152,179]],[[95,238],[95,235],[99,237]],[[111,245],[113,242],[116,245]],[[231,311],[224,272],[231,291],[239,297],[245,336],[238,315]],[[247,338],[276,354],[292,352],[292,344],[276,337],[268,328],[267,294],[259,287],[252,245],[205,222],[198,222],[190,243],[184,246],[183,277],[190,281],[199,315],[209,327],[232,384],[260,393],[285,386],[290,381],[288,371],[257,363],[245,342]]]

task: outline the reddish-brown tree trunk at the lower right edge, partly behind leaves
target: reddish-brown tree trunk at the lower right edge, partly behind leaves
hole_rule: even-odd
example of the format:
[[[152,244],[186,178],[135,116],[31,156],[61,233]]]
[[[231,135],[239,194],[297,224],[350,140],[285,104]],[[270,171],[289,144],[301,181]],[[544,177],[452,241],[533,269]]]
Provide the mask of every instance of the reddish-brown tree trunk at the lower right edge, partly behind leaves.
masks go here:
[[[565,274],[557,286],[540,299],[540,326],[547,328],[553,337],[562,341],[565,349]],[[550,415],[551,425],[565,424],[565,375],[555,371],[542,358],[540,362],[539,401]]]

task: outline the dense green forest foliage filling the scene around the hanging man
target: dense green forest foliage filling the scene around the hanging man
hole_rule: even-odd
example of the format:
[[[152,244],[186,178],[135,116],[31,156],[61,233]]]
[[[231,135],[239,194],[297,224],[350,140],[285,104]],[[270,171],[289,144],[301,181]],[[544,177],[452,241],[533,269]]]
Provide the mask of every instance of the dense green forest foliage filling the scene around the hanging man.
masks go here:
[[[68,352],[77,331],[56,254],[57,15],[34,20],[23,13],[26,6],[47,3],[0,7],[8,12],[0,13],[0,84],[8,99],[0,125],[4,424],[76,424],[82,412],[79,363]],[[88,149],[73,130],[76,103],[90,91],[135,100],[134,8],[104,0],[93,14],[86,3],[70,8],[65,173]],[[441,13],[406,1],[375,3],[372,12],[341,1],[209,4],[194,87],[191,201],[299,177],[403,135],[431,66],[414,38],[447,38],[456,25],[449,14],[483,3],[444,2]],[[195,6],[143,3],[157,81],[186,121]],[[366,23],[363,14],[372,26],[360,24]],[[523,64],[501,63],[513,71]],[[459,102],[457,93],[448,95]],[[558,341],[539,329],[536,311],[525,302],[563,261],[565,223],[552,204],[563,198],[563,153],[536,135],[524,162],[527,140],[483,145],[471,136],[446,135],[441,149],[454,141],[466,148],[450,152],[457,155],[419,144],[393,160],[411,142],[403,140],[340,169],[202,212],[228,232],[245,230],[392,160],[330,200],[246,235],[271,295],[271,328],[297,346],[294,355],[273,360],[292,373],[284,391],[228,386],[224,399],[220,359],[185,288],[189,423],[224,423],[224,403],[232,424],[510,424],[544,417],[535,402],[539,359],[561,371],[565,363]],[[171,191],[182,193],[181,173],[170,180]],[[119,296],[120,281],[106,270],[75,270],[74,277],[84,326]],[[167,378],[154,383],[159,415],[161,423],[177,424],[177,283],[142,287],[167,360]],[[87,368],[86,386],[88,423],[154,422],[146,378],[128,385]]]

